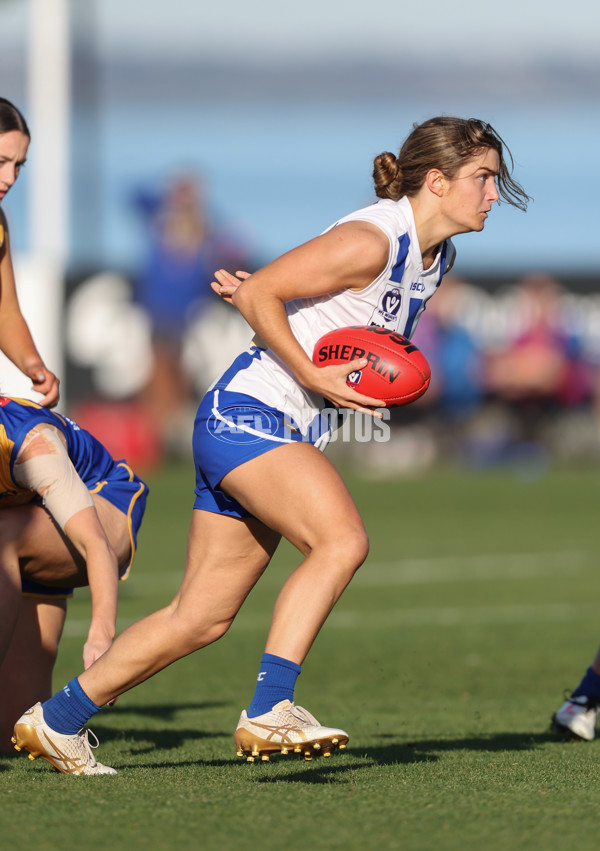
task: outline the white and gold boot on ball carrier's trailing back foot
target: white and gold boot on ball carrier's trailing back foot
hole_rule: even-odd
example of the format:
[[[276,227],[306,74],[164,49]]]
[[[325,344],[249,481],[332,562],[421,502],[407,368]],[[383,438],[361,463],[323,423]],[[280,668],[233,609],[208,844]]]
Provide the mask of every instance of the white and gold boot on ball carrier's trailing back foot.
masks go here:
[[[41,703],[36,703],[19,718],[15,724],[12,742],[16,751],[23,748],[29,751],[29,759],[41,756],[63,774],[116,774],[114,768],[96,762],[89,741],[91,730],[82,728],[73,736],[57,733],[44,721]]]

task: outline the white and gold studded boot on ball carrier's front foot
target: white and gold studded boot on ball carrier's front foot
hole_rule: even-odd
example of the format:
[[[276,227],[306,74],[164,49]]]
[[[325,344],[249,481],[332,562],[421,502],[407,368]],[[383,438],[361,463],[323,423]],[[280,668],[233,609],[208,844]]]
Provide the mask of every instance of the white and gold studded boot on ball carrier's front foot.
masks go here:
[[[331,756],[332,750],[343,750],[348,743],[344,730],[322,727],[310,712],[289,700],[256,718],[248,718],[244,709],[233,738],[237,755],[245,756],[247,762],[257,756],[268,762],[271,753],[301,753],[311,760],[315,754]]]

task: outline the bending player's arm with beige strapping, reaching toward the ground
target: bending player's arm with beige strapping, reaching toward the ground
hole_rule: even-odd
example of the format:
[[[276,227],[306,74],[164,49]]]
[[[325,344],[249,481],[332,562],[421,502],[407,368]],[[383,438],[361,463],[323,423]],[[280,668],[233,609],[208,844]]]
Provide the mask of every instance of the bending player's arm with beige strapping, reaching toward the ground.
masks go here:
[[[92,599],[83,658],[88,668],[115,636],[119,571],[92,495],[79,477],[58,429],[38,426],[23,441],[13,467],[15,480],[35,491],[85,559]]]

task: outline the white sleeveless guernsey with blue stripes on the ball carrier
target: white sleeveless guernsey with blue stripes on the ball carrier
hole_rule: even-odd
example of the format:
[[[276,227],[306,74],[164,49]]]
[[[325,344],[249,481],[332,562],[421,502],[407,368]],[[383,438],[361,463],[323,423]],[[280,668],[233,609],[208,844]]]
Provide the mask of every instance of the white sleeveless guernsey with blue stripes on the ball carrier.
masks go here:
[[[286,304],[294,336],[310,358],[323,334],[348,325],[378,325],[411,337],[425,302],[454,261],[454,246],[446,240],[432,266],[423,269],[412,207],[406,197],[378,201],[350,213],[332,227],[351,221],[371,222],[386,234],[390,243],[388,261],[381,274],[362,290],[340,290]],[[254,396],[288,413],[302,431],[325,406],[325,400],[302,387],[269,349],[237,372],[223,389]]]

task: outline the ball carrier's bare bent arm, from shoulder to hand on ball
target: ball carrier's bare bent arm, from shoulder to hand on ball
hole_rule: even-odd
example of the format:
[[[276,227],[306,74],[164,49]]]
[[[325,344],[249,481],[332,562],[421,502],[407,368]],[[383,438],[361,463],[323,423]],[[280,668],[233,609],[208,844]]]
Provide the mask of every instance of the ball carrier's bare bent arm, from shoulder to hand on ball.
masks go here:
[[[249,325],[309,390],[334,405],[373,413],[380,399],[348,387],[361,360],[317,367],[294,337],[285,305],[296,298],[317,298],[346,289],[360,290],[383,271],[389,241],[369,222],[346,222],[294,248],[243,281],[231,295]]]

